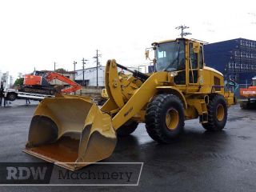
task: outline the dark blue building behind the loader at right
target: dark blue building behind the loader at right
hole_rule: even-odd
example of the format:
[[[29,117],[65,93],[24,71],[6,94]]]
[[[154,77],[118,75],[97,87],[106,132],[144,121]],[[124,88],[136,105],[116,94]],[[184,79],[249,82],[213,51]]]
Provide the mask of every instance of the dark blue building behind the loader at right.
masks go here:
[[[256,41],[236,38],[204,46],[206,66],[213,67],[239,84],[256,76]]]

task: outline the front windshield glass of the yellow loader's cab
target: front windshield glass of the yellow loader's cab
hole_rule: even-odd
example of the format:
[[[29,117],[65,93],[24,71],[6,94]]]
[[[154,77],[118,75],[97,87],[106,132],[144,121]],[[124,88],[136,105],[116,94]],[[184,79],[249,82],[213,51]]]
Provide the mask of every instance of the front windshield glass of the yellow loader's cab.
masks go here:
[[[156,70],[185,70],[184,42],[165,42],[156,49]]]

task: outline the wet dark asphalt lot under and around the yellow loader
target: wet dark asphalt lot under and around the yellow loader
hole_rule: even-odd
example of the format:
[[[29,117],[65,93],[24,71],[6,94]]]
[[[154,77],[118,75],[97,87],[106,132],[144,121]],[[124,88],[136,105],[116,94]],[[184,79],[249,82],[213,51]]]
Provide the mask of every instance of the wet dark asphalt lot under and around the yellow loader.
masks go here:
[[[25,103],[25,102],[24,102]],[[0,162],[37,162],[22,153],[36,105],[0,108]],[[118,141],[108,162],[144,162],[139,186],[1,186],[1,191],[255,191],[256,110],[232,106],[226,128],[205,131],[187,121],[185,134],[170,145],[158,145],[143,124]]]

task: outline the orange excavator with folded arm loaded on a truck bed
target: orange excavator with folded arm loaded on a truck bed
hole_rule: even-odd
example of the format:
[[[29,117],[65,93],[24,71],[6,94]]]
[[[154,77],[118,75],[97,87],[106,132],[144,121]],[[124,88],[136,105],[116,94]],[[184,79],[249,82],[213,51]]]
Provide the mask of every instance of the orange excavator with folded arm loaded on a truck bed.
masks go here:
[[[58,79],[61,82],[65,82],[64,86],[53,86],[50,84],[54,79]],[[62,74],[56,72],[42,72],[34,71],[33,74],[26,74],[22,86],[22,91],[27,93],[37,93],[37,94],[48,94],[54,95],[56,92],[62,94],[69,94],[80,90],[82,86],[78,83],[72,81],[70,78],[66,78]]]

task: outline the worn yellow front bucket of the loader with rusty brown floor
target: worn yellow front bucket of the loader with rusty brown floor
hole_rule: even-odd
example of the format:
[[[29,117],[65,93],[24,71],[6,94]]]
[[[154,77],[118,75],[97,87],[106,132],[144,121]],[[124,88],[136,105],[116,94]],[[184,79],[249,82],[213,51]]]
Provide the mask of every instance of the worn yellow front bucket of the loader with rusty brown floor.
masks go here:
[[[45,98],[30,123],[26,149],[69,170],[108,158],[117,138],[108,114],[88,98]]]

